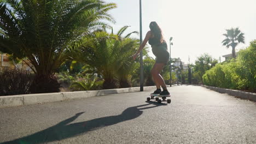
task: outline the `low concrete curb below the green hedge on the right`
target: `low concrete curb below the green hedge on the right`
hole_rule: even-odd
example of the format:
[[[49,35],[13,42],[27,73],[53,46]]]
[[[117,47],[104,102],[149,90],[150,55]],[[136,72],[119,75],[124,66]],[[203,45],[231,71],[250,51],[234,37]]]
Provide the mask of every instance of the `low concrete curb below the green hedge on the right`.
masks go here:
[[[237,98],[256,101],[256,93],[249,93],[249,92],[243,92],[243,91],[238,91],[234,89],[225,89],[225,88],[211,87],[211,86],[205,86],[205,85],[201,85],[201,86],[219,93],[227,93]]]

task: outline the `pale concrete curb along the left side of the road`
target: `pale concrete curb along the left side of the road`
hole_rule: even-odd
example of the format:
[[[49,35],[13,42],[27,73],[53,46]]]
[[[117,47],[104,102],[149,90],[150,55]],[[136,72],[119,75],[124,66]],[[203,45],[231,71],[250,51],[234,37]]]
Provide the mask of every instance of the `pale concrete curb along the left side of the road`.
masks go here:
[[[155,86],[144,87],[144,90],[155,88]],[[69,99],[90,98],[115,93],[139,92],[139,87],[104,89],[100,91],[79,91],[63,93],[40,93],[40,94],[23,94],[0,97],[0,108],[8,106],[21,106],[30,104],[42,104]]]

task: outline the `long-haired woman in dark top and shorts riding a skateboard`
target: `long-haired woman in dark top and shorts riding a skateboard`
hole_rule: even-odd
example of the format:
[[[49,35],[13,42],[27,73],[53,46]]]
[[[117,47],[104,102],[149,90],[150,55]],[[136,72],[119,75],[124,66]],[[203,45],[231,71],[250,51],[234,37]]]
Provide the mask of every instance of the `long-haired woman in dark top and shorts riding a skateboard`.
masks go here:
[[[148,31],[143,43],[139,46],[138,51],[133,55],[133,59],[135,59],[138,56],[138,53],[141,52],[147,43],[149,43],[152,47],[152,52],[156,56],[156,62],[151,70],[151,74],[156,85],[156,91],[154,94],[169,95],[170,93],[166,88],[164,79],[162,79],[162,76],[160,75],[160,71],[169,61],[170,54],[167,51],[167,44],[162,36],[162,31],[158,24],[154,21],[150,22],[149,28],[150,31]],[[161,91],[160,86],[163,91]]]

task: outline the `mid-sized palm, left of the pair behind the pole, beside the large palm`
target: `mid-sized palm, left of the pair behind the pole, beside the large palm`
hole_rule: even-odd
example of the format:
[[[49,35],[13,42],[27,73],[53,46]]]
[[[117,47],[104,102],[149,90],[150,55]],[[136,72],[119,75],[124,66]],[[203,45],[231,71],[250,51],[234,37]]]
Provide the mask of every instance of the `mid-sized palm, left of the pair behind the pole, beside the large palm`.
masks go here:
[[[108,34],[107,32],[102,33]],[[113,50],[114,38],[117,37],[111,34],[109,34],[109,37],[113,38],[105,37],[95,39],[93,43],[85,43],[80,46],[80,52],[75,53],[79,62],[90,65],[90,67],[96,69],[97,74],[103,76],[104,89],[117,88],[117,80],[114,79],[114,73],[117,70],[117,65],[115,65],[117,57]]]

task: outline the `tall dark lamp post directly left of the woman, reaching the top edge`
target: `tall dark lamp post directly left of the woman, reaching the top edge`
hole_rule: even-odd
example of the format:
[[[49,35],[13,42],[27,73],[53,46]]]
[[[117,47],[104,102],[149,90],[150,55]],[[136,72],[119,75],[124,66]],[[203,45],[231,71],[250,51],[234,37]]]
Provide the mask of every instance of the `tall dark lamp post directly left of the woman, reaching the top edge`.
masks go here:
[[[140,44],[142,44],[142,13],[141,13],[141,0],[139,0],[139,41]],[[139,77],[140,80],[140,87],[141,87],[141,92],[143,92],[143,83],[144,83],[144,76],[143,76],[143,53],[142,51],[139,53],[139,64],[141,68],[141,75]]]

